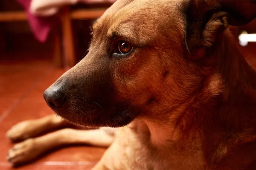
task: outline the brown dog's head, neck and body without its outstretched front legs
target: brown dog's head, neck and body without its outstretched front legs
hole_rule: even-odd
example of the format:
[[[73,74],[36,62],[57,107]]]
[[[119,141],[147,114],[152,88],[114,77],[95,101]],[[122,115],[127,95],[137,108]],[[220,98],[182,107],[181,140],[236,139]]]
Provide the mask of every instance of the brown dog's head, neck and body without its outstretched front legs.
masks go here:
[[[256,73],[227,28],[255,17],[256,0],[118,0],[44,98],[121,127],[95,170],[255,170]]]

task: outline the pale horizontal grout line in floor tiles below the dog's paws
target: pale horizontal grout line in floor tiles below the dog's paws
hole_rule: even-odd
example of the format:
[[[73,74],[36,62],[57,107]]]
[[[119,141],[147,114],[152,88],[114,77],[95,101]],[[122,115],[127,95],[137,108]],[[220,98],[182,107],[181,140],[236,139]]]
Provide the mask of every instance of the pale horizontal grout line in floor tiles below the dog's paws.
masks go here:
[[[46,161],[46,162],[38,162],[33,163],[32,165],[42,165],[42,166],[70,166],[70,165],[95,165],[98,162],[90,162],[90,161],[78,161],[78,162],[72,162],[72,161]],[[0,167],[8,167],[11,166],[8,162],[0,162]]]

